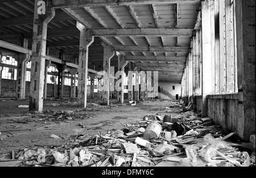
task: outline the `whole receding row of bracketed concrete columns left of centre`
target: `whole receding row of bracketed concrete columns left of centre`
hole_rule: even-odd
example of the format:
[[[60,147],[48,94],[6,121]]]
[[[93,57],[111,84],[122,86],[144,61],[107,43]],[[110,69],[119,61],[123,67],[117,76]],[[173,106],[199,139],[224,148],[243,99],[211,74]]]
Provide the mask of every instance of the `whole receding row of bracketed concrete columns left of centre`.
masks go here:
[[[35,1],[35,12],[36,12],[36,5],[38,0]],[[45,15],[39,15],[38,13],[34,14],[34,27],[33,27],[33,42],[32,42],[32,55],[31,55],[31,85],[30,85],[30,110],[43,110],[43,99],[46,98],[46,83],[47,83],[47,67],[48,65],[51,65],[50,61],[46,61],[46,39],[47,39],[47,24],[51,21],[51,19],[55,16],[55,10],[52,8],[46,8],[47,12]],[[79,46],[79,68],[78,70],[74,69],[71,71],[72,77],[76,75],[78,72],[78,86],[77,86],[77,102],[82,107],[86,107],[86,96],[87,96],[87,77],[88,77],[88,48],[90,44],[94,42],[94,37],[92,35],[92,31],[90,29],[86,28],[79,22],[77,22],[77,28],[80,30],[80,46]],[[24,45],[27,45],[27,42],[24,43]],[[104,81],[105,86],[107,89],[103,90],[102,92],[99,92],[98,95],[100,98],[102,98],[102,102],[106,105],[109,105],[109,98],[110,98],[110,90],[109,88],[114,87],[114,77],[115,75],[118,76],[118,74],[110,73],[110,59],[114,56],[114,51],[112,51],[112,47],[104,42],[102,42],[102,45],[104,47],[104,71],[108,73],[108,80]],[[19,69],[26,69],[24,65],[26,65],[27,57],[20,56],[23,60],[19,60]],[[119,85],[121,87],[121,92],[117,92],[117,98],[118,101],[123,103],[123,90],[124,90],[124,69],[125,66],[129,64],[129,71],[133,70],[132,64],[127,63],[125,60],[125,57],[122,55],[119,55],[118,57],[118,69],[121,71],[119,73],[120,75],[118,78],[122,78],[122,82]],[[65,69],[64,65],[59,65],[57,67],[59,70],[58,73],[58,96],[63,95],[63,72]],[[23,72],[20,73],[20,78],[24,75],[24,72],[26,70],[23,70]],[[129,89],[133,89],[133,72],[129,72],[128,78],[129,78]],[[142,76],[142,90],[146,90],[147,92],[141,91],[139,94],[139,84],[138,84],[138,77],[139,75],[136,75],[136,85],[135,85],[135,100],[139,100],[139,96],[141,96],[141,99],[143,98],[152,98],[151,93],[156,92],[156,89],[149,90],[147,89],[146,83],[154,83],[154,80],[151,75]],[[94,76],[91,76],[91,93],[90,96],[94,97]],[[24,81],[20,81],[24,82]],[[156,81],[157,82],[157,81]],[[101,82],[98,82],[99,85],[101,85]],[[24,93],[24,88],[20,87],[21,85],[18,85],[20,93]],[[22,85],[24,86],[24,85]],[[151,86],[151,85],[150,85]],[[44,92],[45,91],[45,92]],[[72,88],[71,88],[72,97],[75,97],[75,84],[73,84],[72,80]],[[112,92],[113,93],[113,92]],[[23,95],[24,96],[24,95]],[[111,94],[112,96],[112,94]],[[129,92],[129,100],[133,100],[133,92]]]

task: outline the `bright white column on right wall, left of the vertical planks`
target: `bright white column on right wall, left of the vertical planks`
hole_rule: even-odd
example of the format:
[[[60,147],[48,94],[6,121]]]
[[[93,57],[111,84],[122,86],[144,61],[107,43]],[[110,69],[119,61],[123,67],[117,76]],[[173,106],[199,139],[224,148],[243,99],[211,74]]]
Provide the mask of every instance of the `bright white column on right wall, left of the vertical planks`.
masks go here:
[[[214,82],[212,81],[212,60],[214,60],[214,1],[201,2],[202,16],[202,58],[203,58],[203,110],[202,117],[208,116],[207,96],[212,94]],[[212,54],[212,55],[211,55]]]

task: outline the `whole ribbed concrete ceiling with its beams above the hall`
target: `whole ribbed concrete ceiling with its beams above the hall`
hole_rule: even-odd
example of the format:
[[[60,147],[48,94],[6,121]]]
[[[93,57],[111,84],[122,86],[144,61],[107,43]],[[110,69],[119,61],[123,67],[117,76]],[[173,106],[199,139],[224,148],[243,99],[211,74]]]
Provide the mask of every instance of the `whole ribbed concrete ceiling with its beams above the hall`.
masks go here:
[[[77,63],[79,36],[76,21],[95,36],[89,47],[89,67],[100,71],[101,40],[113,46],[143,71],[159,71],[159,81],[180,83],[191,48],[200,1],[196,0],[56,0],[55,17],[48,24],[49,55]],[[34,1],[0,1],[0,39],[32,44]],[[0,49],[1,50],[1,49]],[[117,56],[111,65],[117,70]]]

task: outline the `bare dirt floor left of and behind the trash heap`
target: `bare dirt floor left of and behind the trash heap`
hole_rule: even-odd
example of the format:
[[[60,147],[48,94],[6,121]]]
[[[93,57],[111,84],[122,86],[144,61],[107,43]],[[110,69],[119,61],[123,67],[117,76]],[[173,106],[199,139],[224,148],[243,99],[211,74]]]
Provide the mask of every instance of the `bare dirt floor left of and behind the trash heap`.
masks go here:
[[[69,141],[72,142],[73,138],[80,134],[85,135],[85,139],[98,132],[105,135],[108,130],[120,130],[126,124],[142,121],[145,115],[166,114],[166,108],[168,107],[169,112],[170,105],[176,102],[143,101],[131,106],[117,104],[116,100],[111,100],[112,107],[110,107],[97,105],[100,104],[99,100],[88,100],[88,109],[83,109],[73,105],[74,101],[45,100],[44,112],[38,114],[35,111],[29,112],[28,108],[18,107],[28,105],[28,100],[2,98],[0,100],[0,154],[7,154],[24,147],[59,147]],[[182,107],[178,106],[169,114],[176,115],[179,110],[182,110]],[[52,115],[52,113],[57,114]],[[59,139],[51,138],[52,134],[59,136]]]

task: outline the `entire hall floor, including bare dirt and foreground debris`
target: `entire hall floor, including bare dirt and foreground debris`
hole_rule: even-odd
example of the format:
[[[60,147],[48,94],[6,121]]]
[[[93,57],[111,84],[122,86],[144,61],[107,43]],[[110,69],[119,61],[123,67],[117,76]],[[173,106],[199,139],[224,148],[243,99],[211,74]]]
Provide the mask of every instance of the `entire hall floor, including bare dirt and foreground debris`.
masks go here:
[[[182,102],[151,100],[82,109],[74,100],[0,101],[0,166],[255,167],[244,142]]]

